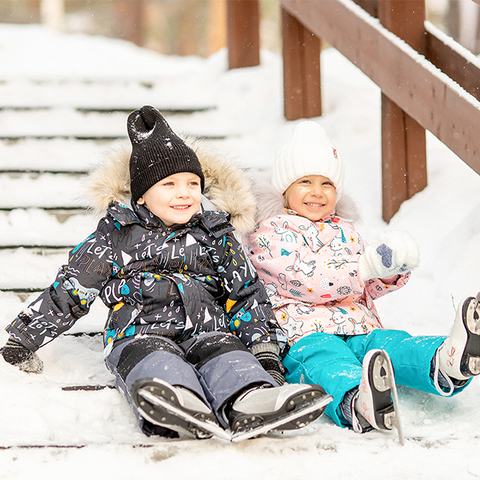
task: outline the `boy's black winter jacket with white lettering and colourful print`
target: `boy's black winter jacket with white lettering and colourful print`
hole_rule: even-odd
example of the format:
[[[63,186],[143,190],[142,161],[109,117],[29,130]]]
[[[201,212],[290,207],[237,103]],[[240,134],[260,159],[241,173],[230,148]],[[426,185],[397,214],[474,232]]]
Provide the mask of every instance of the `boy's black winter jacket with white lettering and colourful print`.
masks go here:
[[[241,191],[240,172],[219,159],[213,159],[209,168],[210,157],[206,159],[198,149],[197,154],[205,170],[207,192],[213,190],[210,200],[214,204],[223,200],[228,207],[219,193],[227,179],[213,178],[212,170],[218,168],[227,175],[228,189],[233,188],[237,175]],[[120,163],[128,167],[128,152],[122,155]],[[110,160],[100,169],[112,178]],[[118,157],[113,161],[118,163]],[[94,189],[102,176],[95,175]],[[124,185],[122,180],[119,185]],[[100,296],[109,308],[104,330],[108,349],[137,335],[181,342],[201,332],[222,331],[238,335],[247,348],[275,342],[285,353],[286,337],[234,236],[229,214],[207,211],[185,225],[167,228],[147,207],[119,203],[119,190],[113,190],[110,196],[100,195],[102,201],[111,203],[96,231],[70,252],[52,285],[7,327],[10,335],[37,350],[87,314]],[[245,201],[248,196],[241,198]],[[231,207],[235,211],[241,205]],[[248,211],[245,206],[244,212]],[[245,215],[236,220],[248,228],[253,216]]]

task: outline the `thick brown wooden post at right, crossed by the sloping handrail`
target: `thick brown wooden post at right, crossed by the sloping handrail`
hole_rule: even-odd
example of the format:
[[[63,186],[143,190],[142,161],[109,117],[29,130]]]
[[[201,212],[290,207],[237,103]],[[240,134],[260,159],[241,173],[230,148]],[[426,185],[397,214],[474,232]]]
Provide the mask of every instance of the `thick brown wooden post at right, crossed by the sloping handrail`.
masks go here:
[[[425,53],[424,0],[378,0],[383,26]],[[383,219],[427,186],[425,130],[382,94]]]

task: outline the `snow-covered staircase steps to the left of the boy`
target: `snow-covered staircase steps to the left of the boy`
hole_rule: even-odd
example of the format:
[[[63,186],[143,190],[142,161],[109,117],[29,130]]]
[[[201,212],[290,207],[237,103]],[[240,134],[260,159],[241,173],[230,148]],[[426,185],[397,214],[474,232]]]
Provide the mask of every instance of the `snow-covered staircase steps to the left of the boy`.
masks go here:
[[[126,139],[127,115],[143,102],[87,105],[85,98],[70,94],[73,82],[26,82],[25,91],[34,91],[32,101],[2,95],[8,87],[9,82],[0,87],[0,97],[9,100],[0,111],[0,123],[7,127],[0,132],[0,262],[12,268],[2,276],[0,290],[24,295],[46,287],[68,249],[95,228],[81,198],[81,181],[104,149]],[[106,88],[89,81],[88,90]],[[139,83],[129,86],[134,92],[142,89]],[[52,92],[69,97],[70,105],[49,98]],[[149,102],[167,119],[202,109],[163,108],[151,95]]]

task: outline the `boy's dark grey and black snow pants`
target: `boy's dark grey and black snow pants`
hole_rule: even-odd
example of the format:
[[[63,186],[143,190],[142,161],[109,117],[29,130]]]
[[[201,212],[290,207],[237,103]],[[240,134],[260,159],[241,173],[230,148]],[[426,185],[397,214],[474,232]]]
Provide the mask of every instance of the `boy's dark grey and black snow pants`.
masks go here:
[[[142,378],[159,378],[196,393],[227,427],[222,407],[242,390],[259,384],[277,386],[258,360],[234,335],[202,333],[176,344],[164,337],[145,336],[114,347],[106,359],[115,375],[116,388],[130,404],[142,431],[150,435],[174,436],[145,420],[133,405],[132,384]]]

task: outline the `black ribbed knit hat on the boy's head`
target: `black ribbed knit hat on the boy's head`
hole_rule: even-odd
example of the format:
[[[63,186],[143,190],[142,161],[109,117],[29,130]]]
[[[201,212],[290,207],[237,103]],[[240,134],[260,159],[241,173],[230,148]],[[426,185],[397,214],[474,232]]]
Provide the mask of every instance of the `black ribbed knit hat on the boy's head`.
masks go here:
[[[127,128],[132,142],[130,190],[134,202],[160,180],[181,172],[198,175],[203,192],[205,177],[197,155],[156,108],[147,105],[132,112]]]

